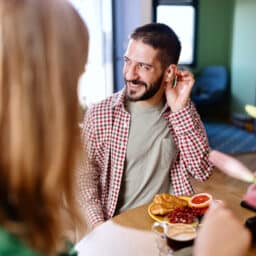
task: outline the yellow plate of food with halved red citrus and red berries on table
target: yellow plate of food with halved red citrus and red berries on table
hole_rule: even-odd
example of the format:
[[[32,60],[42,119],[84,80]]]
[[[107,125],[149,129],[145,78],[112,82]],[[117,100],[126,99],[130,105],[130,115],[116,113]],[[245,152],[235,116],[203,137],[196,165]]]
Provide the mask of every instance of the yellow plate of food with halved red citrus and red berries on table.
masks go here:
[[[208,193],[192,197],[157,194],[148,206],[148,214],[158,222],[198,224],[211,201],[212,196]]]

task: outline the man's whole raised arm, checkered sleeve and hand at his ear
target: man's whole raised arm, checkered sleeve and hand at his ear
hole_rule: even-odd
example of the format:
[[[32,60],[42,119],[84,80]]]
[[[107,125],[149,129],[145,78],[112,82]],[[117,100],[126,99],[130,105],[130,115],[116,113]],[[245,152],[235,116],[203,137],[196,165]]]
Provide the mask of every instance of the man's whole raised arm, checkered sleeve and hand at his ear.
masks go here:
[[[209,144],[204,126],[194,105],[190,101],[190,93],[194,85],[191,72],[180,71],[175,65],[169,79],[166,79],[166,100],[171,108],[169,121],[174,129],[176,143],[179,148],[177,168],[186,170],[195,179],[206,180],[212,172],[209,162]],[[176,86],[172,81],[177,78]]]

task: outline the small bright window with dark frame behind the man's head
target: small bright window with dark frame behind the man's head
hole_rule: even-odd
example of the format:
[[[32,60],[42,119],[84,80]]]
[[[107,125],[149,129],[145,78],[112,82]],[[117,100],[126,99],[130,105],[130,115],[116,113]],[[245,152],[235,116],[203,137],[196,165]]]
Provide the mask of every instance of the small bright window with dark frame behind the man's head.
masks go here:
[[[153,19],[165,23],[178,35],[182,50],[179,64],[194,66],[197,27],[197,0],[154,0]]]

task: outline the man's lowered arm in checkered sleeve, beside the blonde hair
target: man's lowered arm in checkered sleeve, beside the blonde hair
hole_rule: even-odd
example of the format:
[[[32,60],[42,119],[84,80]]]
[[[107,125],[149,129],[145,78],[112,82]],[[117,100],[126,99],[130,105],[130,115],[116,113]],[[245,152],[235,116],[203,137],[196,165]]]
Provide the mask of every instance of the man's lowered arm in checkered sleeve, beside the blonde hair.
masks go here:
[[[78,203],[86,215],[87,222],[93,228],[104,221],[99,194],[100,169],[96,163],[97,138],[94,129],[92,111],[88,110],[82,133],[84,154],[76,180]]]

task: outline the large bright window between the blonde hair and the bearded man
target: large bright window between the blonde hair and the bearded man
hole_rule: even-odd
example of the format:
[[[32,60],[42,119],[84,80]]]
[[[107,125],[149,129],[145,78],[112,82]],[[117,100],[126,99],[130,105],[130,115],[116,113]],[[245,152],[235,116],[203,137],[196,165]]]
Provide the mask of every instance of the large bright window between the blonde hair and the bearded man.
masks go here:
[[[86,73],[78,86],[80,104],[90,105],[113,92],[111,0],[69,0],[85,20],[89,34]]]

